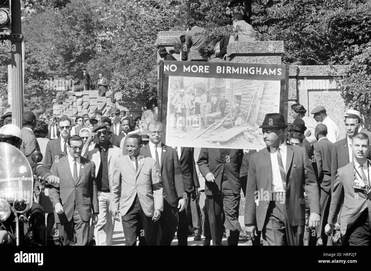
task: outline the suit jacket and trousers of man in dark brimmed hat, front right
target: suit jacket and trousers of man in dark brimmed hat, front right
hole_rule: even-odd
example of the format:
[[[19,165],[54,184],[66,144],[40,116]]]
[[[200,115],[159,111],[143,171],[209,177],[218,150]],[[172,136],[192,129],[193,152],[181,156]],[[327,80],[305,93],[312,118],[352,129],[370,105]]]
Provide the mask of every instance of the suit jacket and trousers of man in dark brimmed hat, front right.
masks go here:
[[[306,222],[304,191],[308,196],[311,213],[321,213],[317,180],[305,150],[287,145],[286,151],[286,197],[283,203],[271,201],[271,198],[267,200],[262,195],[258,198],[259,204],[256,204],[256,191],[272,191],[269,148],[264,148],[250,158],[244,223],[257,225],[257,230],[262,231],[263,242],[269,245],[303,245]],[[277,211],[280,212],[278,219]],[[271,224],[273,221],[277,224]]]

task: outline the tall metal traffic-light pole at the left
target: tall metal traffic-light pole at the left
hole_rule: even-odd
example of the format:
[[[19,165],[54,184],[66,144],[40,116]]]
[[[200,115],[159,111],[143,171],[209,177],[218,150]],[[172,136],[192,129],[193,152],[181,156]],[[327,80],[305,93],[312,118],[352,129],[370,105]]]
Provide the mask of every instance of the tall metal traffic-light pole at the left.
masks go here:
[[[12,1],[12,123],[22,128],[23,113],[23,68],[21,1]]]

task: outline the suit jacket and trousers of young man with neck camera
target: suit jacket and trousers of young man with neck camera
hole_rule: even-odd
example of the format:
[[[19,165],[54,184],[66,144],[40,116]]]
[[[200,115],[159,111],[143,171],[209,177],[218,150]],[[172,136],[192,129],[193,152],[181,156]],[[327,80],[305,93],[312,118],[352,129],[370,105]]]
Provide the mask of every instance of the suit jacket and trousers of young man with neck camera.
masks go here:
[[[357,168],[357,170],[360,169]],[[337,214],[344,202],[340,215],[340,232],[343,236],[342,245],[348,245],[348,241],[350,245],[370,245],[369,213],[371,201],[367,199],[362,190],[353,187],[354,178],[353,163],[348,163],[338,169],[328,223],[335,224]],[[368,232],[368,237],[366,234],[357,234],[359,228],[364,228]]]

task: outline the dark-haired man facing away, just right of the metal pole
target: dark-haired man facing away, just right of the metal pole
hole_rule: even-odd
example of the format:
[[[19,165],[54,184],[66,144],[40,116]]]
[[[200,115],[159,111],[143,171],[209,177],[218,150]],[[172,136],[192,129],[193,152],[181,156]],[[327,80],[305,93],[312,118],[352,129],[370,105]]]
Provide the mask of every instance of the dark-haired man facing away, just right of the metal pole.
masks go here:
[[[33,134],[36,127],[36,116],[31,111],[23,112],[22,114],[22,146],[21,151],[29,157],[34,151],[40,151],[39,143]]]

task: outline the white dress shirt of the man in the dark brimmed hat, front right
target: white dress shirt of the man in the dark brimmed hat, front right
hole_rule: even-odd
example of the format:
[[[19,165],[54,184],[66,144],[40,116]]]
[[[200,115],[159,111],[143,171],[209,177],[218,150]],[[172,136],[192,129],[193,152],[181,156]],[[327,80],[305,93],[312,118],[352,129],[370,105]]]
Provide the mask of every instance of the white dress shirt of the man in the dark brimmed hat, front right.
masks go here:
[[[283,168],[286,173],[286,157],[287,157],[287,145],[286,142],[283,142],[279,146],[280,153],[282,157]],[[281,172],[279,171],[278,158],[277,158],[277,149],[270,148],[270,162],[272,163],[272,191],[275,192],[285,192],[283,189]]]

